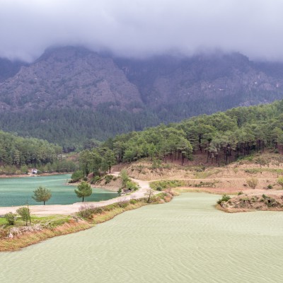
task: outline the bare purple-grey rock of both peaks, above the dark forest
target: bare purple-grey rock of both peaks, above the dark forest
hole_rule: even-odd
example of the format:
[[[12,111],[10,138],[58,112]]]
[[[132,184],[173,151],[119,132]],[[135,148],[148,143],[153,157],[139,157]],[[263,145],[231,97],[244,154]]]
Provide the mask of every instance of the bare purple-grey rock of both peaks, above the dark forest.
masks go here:
[[[283,76],[276,76],[283,73],[283,64],[255,64],[241,54],[137,60],[64,47],[47,50],[33,64],[16,74],[15,70],[6,72],[8,78],[2,76],[2,110],[96,108],[109,103],[134,111],[177,108],[183,118],[200,114],[190,112],[192,103],[204,104],[198,105],[203,112],[214,112],[271,102],[282,98],[283,91]]]

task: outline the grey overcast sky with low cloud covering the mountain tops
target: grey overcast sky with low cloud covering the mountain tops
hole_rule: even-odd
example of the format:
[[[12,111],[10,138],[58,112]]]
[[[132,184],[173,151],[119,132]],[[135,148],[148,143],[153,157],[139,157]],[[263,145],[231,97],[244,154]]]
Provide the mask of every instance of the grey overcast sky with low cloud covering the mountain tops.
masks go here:
[[[282,32],[283,0],[0,0],[0,57],[26,61],[52,45],[283,61]]]

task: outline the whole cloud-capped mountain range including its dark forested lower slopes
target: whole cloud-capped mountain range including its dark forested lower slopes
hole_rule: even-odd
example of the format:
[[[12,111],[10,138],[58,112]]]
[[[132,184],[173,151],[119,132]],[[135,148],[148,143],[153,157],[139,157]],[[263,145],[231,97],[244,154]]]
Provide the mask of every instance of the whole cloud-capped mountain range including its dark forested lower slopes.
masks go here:
[[[282,63],[238,53],[125,59],[58,47],[32,64],[3,59],[0,67],[0,129],[66,149],[283,93]]]

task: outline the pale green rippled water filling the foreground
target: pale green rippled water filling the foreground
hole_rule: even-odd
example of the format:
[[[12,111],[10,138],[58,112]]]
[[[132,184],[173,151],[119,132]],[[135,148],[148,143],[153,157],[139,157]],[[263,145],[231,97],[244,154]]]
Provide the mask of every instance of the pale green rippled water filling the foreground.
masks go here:
[[[187,193],[0,253],[0,282],[283,282],[283,213],[226,214]]]

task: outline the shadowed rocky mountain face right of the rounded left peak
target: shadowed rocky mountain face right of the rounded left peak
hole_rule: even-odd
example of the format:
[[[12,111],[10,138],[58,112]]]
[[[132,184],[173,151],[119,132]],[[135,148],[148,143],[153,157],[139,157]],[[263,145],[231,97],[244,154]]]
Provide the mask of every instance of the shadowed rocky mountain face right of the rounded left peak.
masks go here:
[[[283,76],[275,77],[271,66],[267,69],[267,64],[255,64],[241,54],[124,59],[118,64],[129,81],[138,86],[144,102],[156,107],[209,100],[219,103],[219,107],[225,104],[230,107],[282,98]],[[283,64],[277,65],[277,69],[282,71]]]

